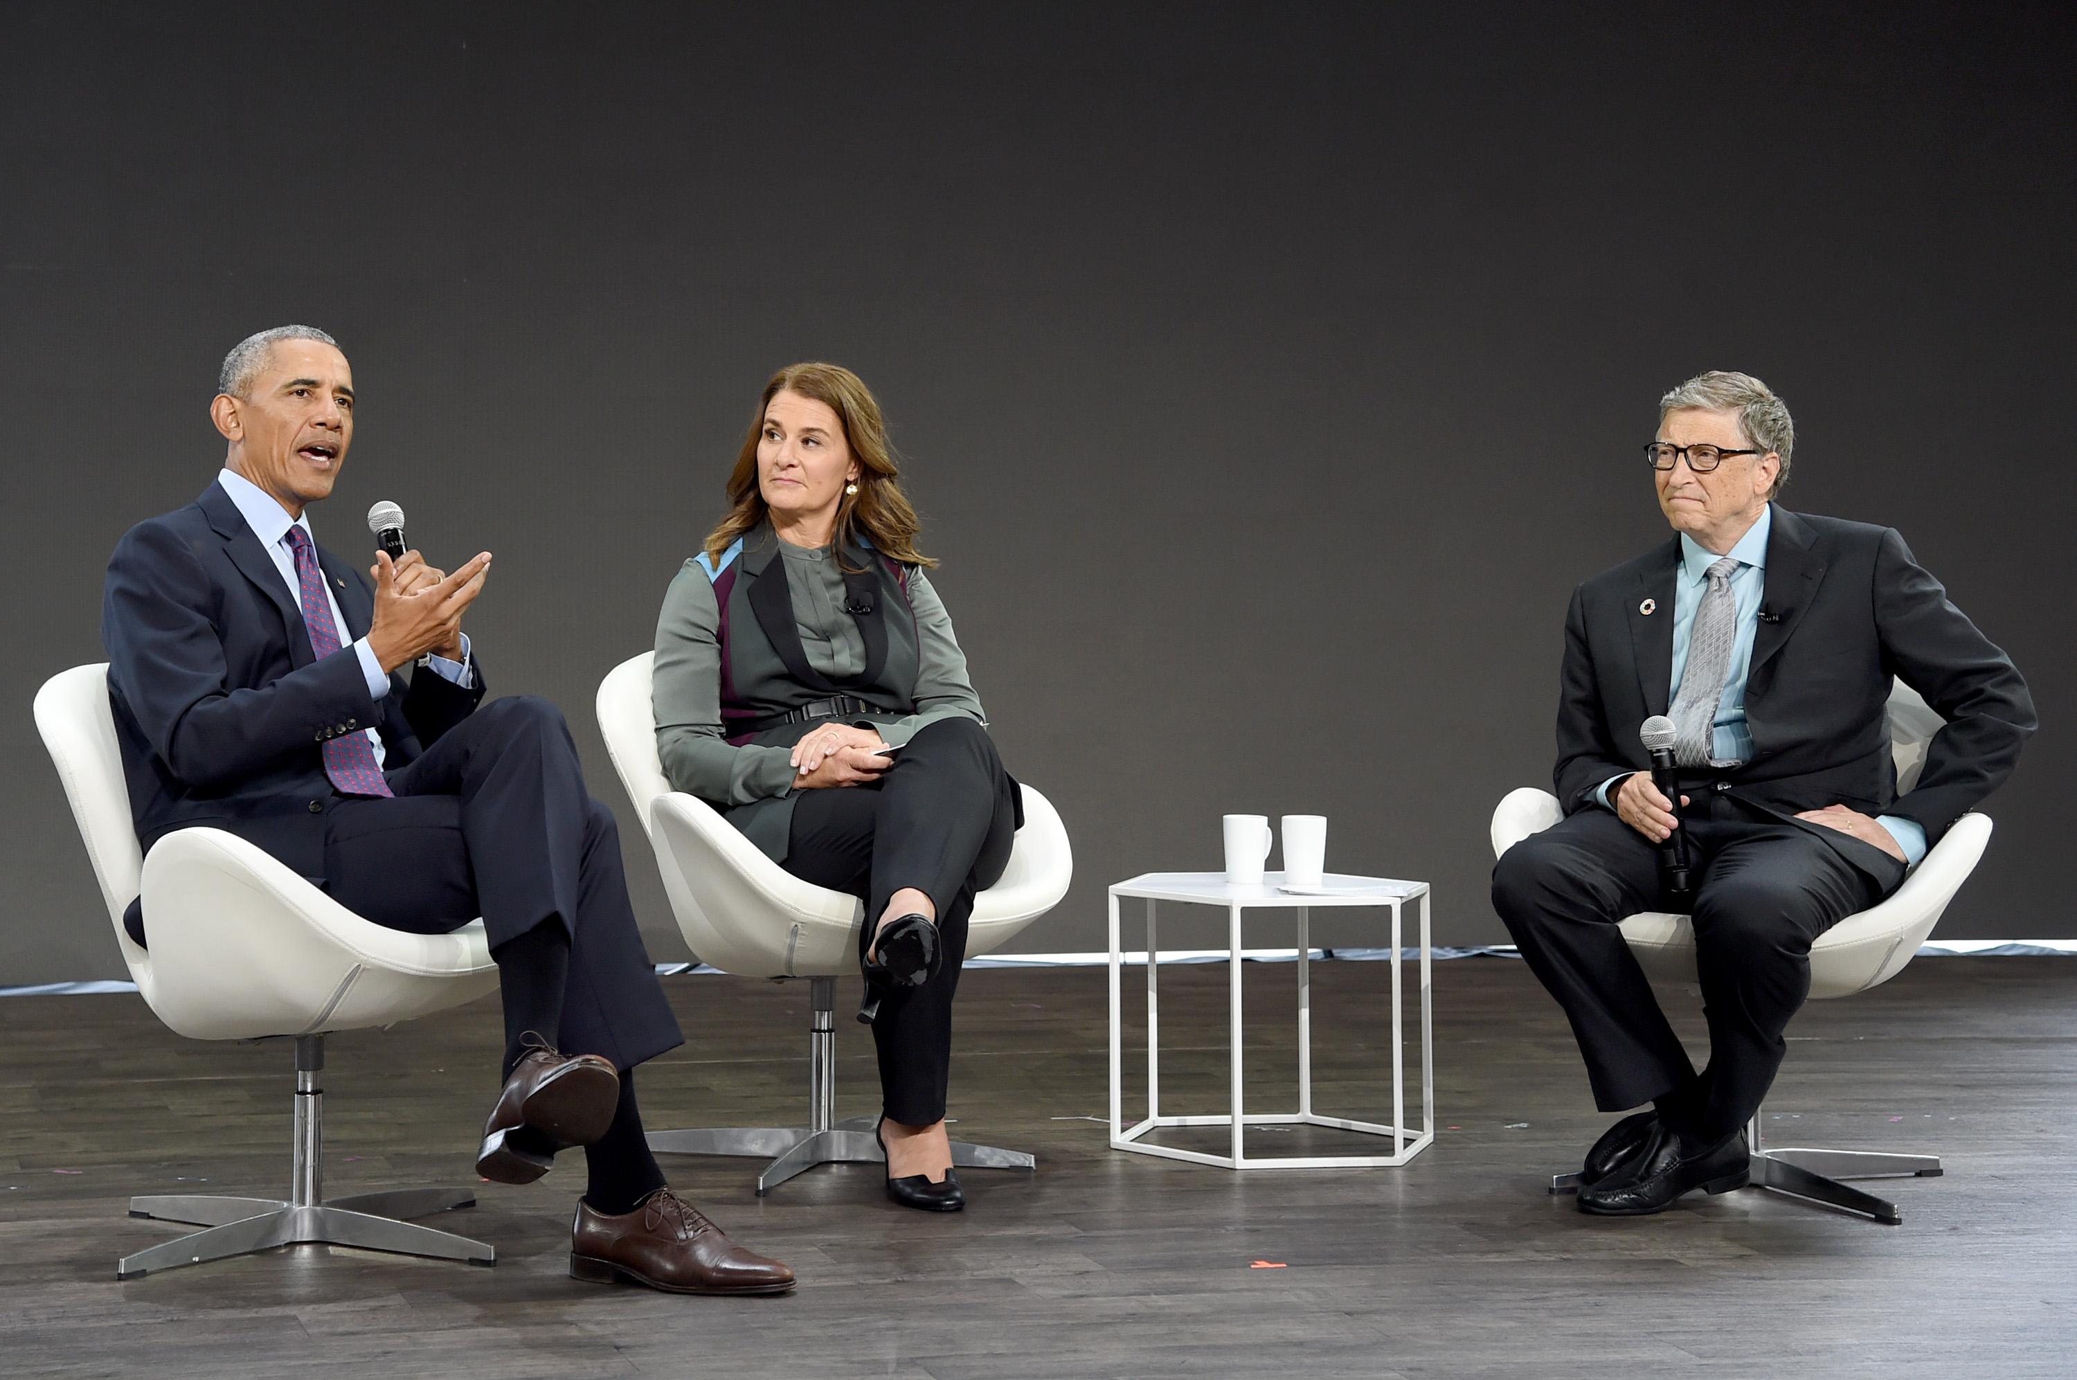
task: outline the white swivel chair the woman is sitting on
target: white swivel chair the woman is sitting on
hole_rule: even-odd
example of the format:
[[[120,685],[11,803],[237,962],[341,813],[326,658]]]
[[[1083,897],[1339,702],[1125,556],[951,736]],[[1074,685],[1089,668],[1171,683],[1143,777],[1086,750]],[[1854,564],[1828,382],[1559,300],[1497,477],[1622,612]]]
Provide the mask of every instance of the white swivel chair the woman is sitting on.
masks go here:
[[[856,896],[810,885],[766,858],[698,796],[671,790],[656,759],[656,715],[650,709],[650,663],[642,653],[613,667],[598,686],[598,727],[621,786],[648,827],[665,894],[685,944],[704,962],[744,977],[806,977],[808,1124],[654,1131],[650,1147],[677,1156],[771,1158],[758,1193],[771,1193],[816,1164],[876,1164],[874,1118],[837,1116],[837,977],[858,971]],[[1001,881],[974,900],[966,954],[1001,948],[1020,929],[1059,904],[1074,877],[1068,831],[1053,804],[1024,788],[1024,827]],[[951,1143],[960,1168],[1028,1170],[1032,1156],[991,1145]]]

